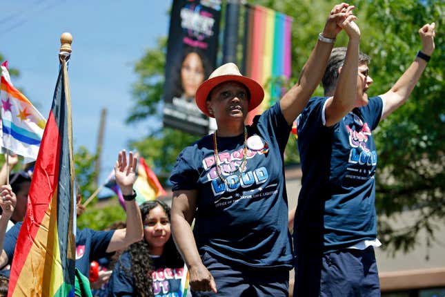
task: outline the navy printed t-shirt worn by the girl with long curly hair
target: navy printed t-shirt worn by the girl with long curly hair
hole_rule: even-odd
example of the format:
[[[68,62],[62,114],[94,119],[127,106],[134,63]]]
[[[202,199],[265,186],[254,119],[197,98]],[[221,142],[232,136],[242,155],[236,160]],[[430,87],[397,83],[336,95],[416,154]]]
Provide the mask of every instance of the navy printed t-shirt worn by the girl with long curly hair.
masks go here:
[[[152,272],[153,295],[155,297],[179,297],[181,278],[184,267],[167,267],[166,260],[161,256],[151,258],[155,271]],[[131,258],[128,251],[121,255],[113,269],[108,289],[110,296],[135,296],[133,276],[131,274]]]

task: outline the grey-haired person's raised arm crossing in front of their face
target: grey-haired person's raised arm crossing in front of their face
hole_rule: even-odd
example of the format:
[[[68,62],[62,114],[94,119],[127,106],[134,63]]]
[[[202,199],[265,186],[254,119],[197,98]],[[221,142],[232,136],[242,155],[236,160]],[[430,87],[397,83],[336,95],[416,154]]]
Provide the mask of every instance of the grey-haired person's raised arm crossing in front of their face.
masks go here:
[[[344,64],[335,86],[333,97],[326,100],[326,126],[333,126],[353,110],[357,101],[357,77],[359,68],[360,30],[351,15],[340,26],[349,37]]]

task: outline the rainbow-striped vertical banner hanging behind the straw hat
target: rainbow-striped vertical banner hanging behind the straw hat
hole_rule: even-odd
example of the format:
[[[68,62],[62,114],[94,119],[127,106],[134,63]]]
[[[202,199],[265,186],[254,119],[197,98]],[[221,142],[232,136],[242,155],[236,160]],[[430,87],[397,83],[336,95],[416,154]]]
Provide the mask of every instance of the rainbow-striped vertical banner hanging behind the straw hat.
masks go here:
[[[264,88],[263,102],[249,113],[248,121],[252,122],[281,97],[281,82],[290,77],[293,19],[270,8],[246,5],[244,20],[244,73]]]

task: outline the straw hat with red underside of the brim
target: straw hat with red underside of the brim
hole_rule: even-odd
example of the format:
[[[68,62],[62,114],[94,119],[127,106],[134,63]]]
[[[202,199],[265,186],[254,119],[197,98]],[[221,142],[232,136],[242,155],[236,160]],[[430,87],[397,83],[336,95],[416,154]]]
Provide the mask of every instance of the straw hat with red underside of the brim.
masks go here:
[[[216,68],[196,91],[196,105],[208,117],[213,117],[213,115],[210,115],[208,112],[206,105],[208,95],[215,86],[223,82],[239,82],[248,88],[250,92],[248,111],[252,111],[255,107],[259,106],[261,101],[263,101],[264,90],[261,85],[255,82],[255,80],[241,75],[235,64],[227,63]]]

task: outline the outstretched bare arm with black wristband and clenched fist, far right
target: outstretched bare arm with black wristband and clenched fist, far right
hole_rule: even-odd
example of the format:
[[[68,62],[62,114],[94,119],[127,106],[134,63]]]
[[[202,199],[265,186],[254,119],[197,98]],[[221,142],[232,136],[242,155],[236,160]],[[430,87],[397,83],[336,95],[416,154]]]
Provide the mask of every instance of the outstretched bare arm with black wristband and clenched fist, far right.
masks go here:
[[[419,52],[411,66],[406,69],[404,74],[397,80],[395,85],[388,90],[388,92],[381,95],[384,102],[384,111],[382,119],[386,118],[390,113],[402,106],[409,95],[413,91],[417,82],[419,82],[420,76],[426,68],[428,57],[433,54],[435,45],[435,23],[427,23],[419,29],[420,39],[422,40],[422,51]],[[426,59],[422,59],[423,55],[426,55]],[[419,57],[421,56],[421,57]],[[381,120],[382,120],[381,119]]]

